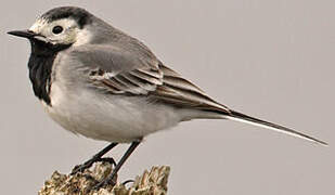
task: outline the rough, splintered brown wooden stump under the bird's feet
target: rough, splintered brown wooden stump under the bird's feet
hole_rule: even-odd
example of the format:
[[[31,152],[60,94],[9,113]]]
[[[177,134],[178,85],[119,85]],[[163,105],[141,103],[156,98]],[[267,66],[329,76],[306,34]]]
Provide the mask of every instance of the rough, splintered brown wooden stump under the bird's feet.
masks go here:
[[[112,171],[108,162],[96,162],[95,166],[83,173],[75,176],[62,174],[55,171],[51,179],[46,181],[38,195],[166,195],[170,168],[167,166],[153,167],[145,170],[142,176],[136,177],[134,182],[125,186],[120,182],[99,191],[88,188],[106,178]],[[115,178],[117,181],[117,178]],[[128,184],[127,184],[128,185]]]

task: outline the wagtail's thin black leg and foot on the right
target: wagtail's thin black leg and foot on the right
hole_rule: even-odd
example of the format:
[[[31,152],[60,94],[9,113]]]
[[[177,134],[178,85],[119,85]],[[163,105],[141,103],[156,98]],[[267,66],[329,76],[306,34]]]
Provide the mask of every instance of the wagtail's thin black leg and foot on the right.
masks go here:
[[[113,182],[113,178],[117,174],[118,170],[121,168],[121,166],[125,164],[125,161],[128,159],[128,157],[131,155],[131,153],[139,146],[141,141],[134,141],[131,143],[125,155],[121,157],[121,159],[117,162],[115,168],[113,169],[112,173],[103,181],[99,182],[95,186],[93,186],[93,190],[99,190],[101,187],[104,187],[105,185]],[[113,183],[115,184],[115,183]]]

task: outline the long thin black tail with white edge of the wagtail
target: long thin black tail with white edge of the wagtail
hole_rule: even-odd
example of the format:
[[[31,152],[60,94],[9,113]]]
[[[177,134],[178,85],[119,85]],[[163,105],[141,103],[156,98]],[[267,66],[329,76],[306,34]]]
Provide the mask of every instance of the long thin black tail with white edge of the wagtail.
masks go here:
[[[231,109],[230,109],[230,114],[226,115],[224,118],[235,120],[235,121],[242,121],[242,122],[245,122],[245,123],[250,123],[250,125],[254,125],[254,126],[267,128],[267,129],[279,131],[279,132],[286,133],[286,134],[291,134],[293,136],[301,138],[301,139],[305,139],[305,140],[308,140],[308,141],[311,141],[311,142],[314,142],[314,143],[318,143],[318,144],[321,144],[321,145],[325,145],[325,146],[328,145],[327,143],[325,143],[321,140],[314,139],[312,136],[300,133],[300,132],[295,131],[293,129],[289,129],[289,128],[286,128],[286,127],[283,127],[283,126],[279,126],[279,125],[272,123],[272,122],[268,122],[268,121],[265,121],[265,120],[261,120],[261,119],[258,119],[258,118],[254,118],[254,117],[250,117],[250,116],[247,116],[247,115],[244,115],[242,113],[234,112],[234,110],[231,110]]]

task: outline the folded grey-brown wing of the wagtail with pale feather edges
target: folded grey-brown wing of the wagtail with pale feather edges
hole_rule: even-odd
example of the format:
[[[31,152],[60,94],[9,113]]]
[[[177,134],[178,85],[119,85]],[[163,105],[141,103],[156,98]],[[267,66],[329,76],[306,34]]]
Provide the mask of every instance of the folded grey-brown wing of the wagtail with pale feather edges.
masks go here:
[[[177,107],[229,113],[224,105],[146,53],[139,56],[112,46],[86,47],[75,52],[90,69],[91,82],[109,93],[145,95]]]

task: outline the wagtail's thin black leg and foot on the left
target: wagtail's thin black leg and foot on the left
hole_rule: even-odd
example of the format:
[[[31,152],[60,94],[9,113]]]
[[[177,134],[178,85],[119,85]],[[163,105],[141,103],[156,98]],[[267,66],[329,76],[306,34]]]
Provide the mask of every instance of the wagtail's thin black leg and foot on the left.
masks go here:
[[[81,165],[76,166],[70,172],[70,174],[75,174],[77,172],[83,172],[86,169],[90,168],[95,161],[111,161],[112,164],[115,164],[113,158],[102,158],[102,156],[106,154],[108,151],[111,151],[113,147],[115,147],[117,144],[118,143],[111,143],[105,148],[96,153],[91,159],[87,160]]]

